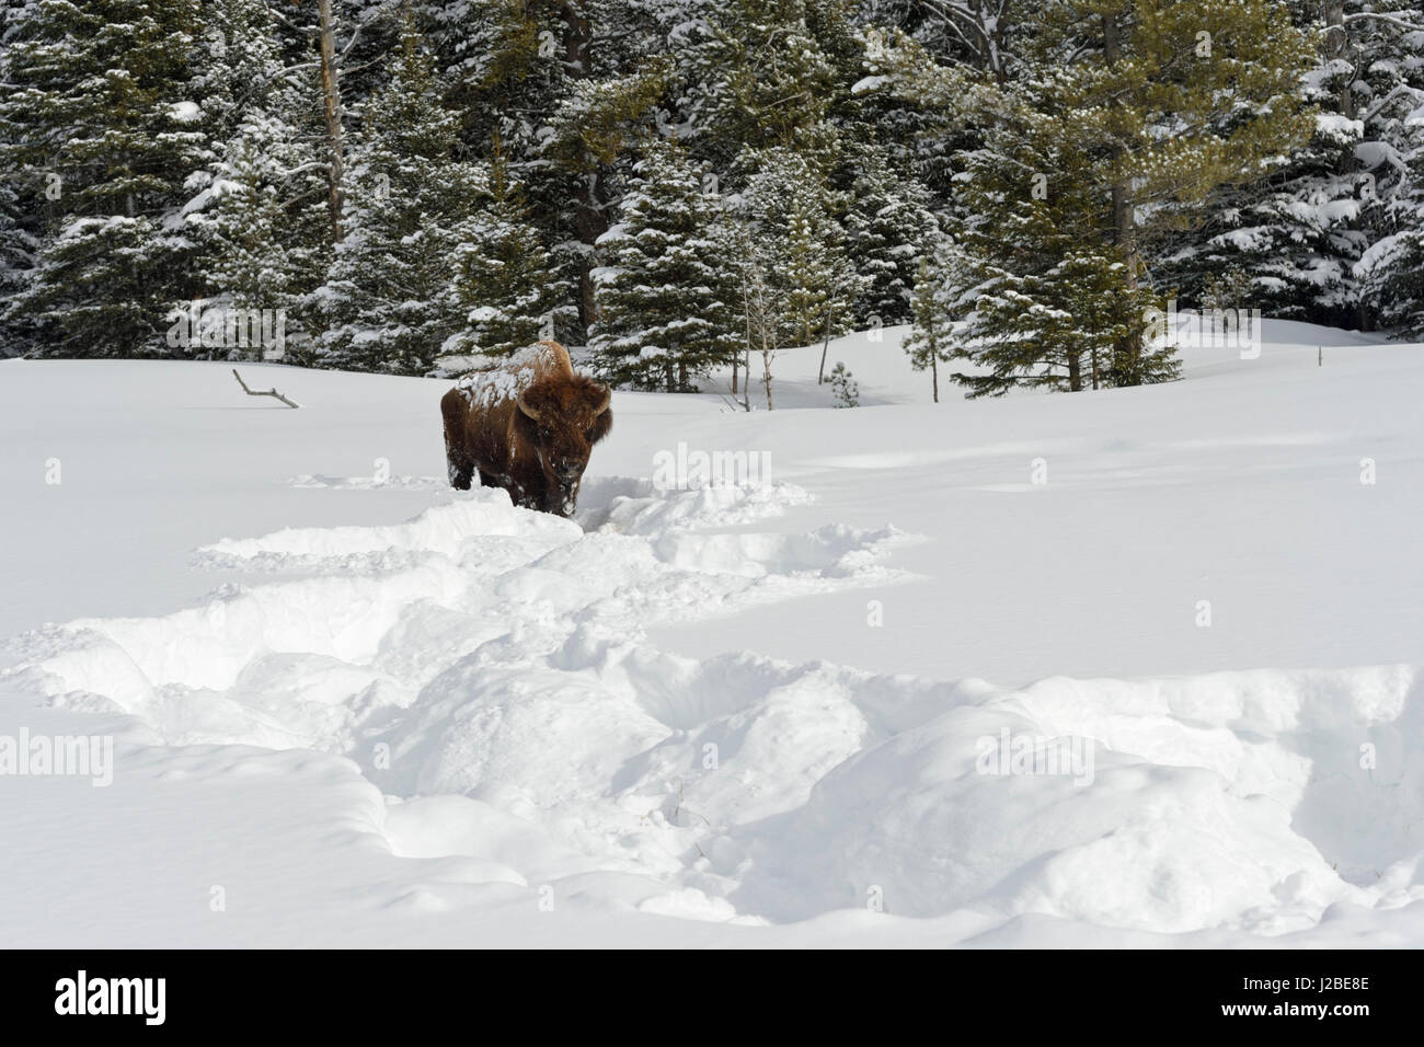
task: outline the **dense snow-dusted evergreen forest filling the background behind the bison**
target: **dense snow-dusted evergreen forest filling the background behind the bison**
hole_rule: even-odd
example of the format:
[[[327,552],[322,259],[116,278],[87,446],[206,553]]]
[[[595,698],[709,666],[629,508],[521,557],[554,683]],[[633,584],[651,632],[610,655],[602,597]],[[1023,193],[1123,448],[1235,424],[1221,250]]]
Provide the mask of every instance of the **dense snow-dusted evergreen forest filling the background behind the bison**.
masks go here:
[[[410,373],[548,318],[571,345],[632,338],[594,278],[622,268],[611,222],[658,197],[649,138],[715,177],[719,228],[755,229],[711,261],[769,395],[776,348],[928,308],[934,225],[984,299],[937,275],[977,332],[956,350],[1037,345],[1052,359],[1002,372],[1030,383],[1088,336],[1048,322],[1067,274],[1111,309],[1151,286],[1418,336],[1421,23],[1417,0],[17,0],[0,338],[165,353],[194,299],[285,308],[289,359]],[[1099,382],[1172,376],[1132,326],[1092,328],[1129,339]]]

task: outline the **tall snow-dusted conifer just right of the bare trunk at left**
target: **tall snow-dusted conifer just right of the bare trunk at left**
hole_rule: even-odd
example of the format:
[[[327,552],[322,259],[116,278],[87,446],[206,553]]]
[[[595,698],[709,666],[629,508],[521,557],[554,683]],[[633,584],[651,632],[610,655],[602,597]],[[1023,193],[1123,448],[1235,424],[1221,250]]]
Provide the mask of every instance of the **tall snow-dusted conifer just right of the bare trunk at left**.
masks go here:
[[[464,326],[453,258],[474,238],[486,172],[451,158],[460,117],[439,97],[434,63],[407,23],[390,83],[363,108],[347,232],[313,292],[329,366],[424,375]]]

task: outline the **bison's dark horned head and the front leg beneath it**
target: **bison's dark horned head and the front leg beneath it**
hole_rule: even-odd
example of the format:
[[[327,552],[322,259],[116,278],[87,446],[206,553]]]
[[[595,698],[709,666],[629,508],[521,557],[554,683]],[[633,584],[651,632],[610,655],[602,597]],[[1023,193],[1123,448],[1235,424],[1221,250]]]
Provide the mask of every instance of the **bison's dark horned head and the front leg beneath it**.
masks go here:
[[[608,436],[612,390],[590,377],[535,382],[518,399],[514,424],[544,470],[545,513],[571,517],[594,444]]]

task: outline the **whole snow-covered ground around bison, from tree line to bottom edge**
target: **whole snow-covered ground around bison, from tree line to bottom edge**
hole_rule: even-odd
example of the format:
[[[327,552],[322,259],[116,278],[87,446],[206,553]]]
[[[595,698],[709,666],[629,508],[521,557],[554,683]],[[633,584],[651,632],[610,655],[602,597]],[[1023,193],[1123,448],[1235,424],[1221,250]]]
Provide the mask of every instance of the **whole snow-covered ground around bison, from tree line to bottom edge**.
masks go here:
[[[446,486],[447,383],[0,363],[0,738],[115,739],[3,781],[0,936],[1424,946],[1424,346],[933,405],[901,335],[617,393],[577,523]]]

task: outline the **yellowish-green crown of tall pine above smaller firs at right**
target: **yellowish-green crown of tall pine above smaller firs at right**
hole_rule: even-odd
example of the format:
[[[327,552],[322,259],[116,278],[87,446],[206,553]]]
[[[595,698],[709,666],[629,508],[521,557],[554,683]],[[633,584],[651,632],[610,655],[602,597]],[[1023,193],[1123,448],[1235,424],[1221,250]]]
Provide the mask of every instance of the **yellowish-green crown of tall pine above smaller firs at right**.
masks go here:
[[[1255,177],[1312,127],[1299,97],[1307,34],[1277,0],[1064,0],[1035,17],[1038,74],[1020,93],[1044,128],[1087,152],[1128,288],[1163,222],[1193,225],[1218,185]],[[1042,128],[1038,128],[1042,130]],[[1062,170],[1047,170],[1052,181]],[[1115,383],[1152,380],[1118,346]]]

